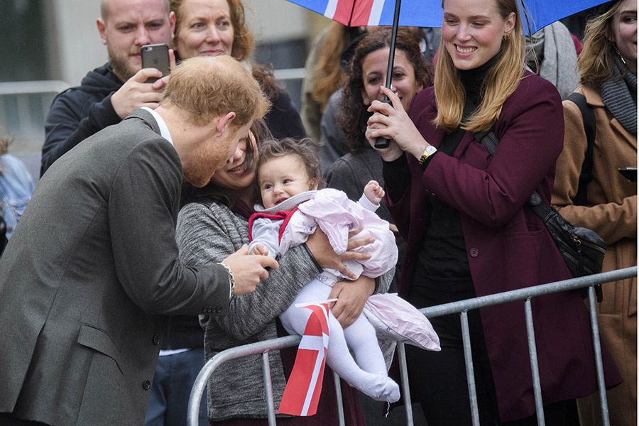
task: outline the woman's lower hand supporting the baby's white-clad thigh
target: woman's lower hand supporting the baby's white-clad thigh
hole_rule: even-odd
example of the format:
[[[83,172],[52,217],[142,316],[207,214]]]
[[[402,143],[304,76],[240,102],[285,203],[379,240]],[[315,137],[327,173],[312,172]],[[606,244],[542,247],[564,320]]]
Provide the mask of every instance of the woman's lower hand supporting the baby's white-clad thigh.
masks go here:
[[[357,320],[364,308],[364,303],[373,291],[375,291],[375,280],[364,275],[360,275],[354,281],[340,281],[333,285],[329,299],[337,297],[337,302],[334,302],[331,312],[339,324],[342,324],[342,328],[349,327]]]

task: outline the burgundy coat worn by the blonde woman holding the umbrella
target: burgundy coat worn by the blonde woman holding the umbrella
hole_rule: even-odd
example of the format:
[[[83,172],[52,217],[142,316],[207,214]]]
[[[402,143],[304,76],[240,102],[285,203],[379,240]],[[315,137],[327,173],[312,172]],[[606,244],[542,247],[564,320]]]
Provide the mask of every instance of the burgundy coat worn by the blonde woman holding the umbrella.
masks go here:
[[[432,87],[417,94],[410,118],[425,139],[439,146]],[[472,133],[464,135],[454,156],[437,153],[425,170],[408,158],[410,187],[390,205],[408,243],[400,294],[408,294],[428,217],[427,197],[460,214],[477,296],[570,278],[543,222],[525,201],[537,190],[550,199],[555,161],[562,151],[562,101],[550,82],[527,74],[504,103],[493,126],[500,143],[493,158]],[[576,291],[532,299],[537,356],[544,404],[596,391],[596,372],[588,312]],[[523,302],[481,309],[502,421],[532,415],[535,401],[528,357]],[[608,354],[608,386],[619,383]]]

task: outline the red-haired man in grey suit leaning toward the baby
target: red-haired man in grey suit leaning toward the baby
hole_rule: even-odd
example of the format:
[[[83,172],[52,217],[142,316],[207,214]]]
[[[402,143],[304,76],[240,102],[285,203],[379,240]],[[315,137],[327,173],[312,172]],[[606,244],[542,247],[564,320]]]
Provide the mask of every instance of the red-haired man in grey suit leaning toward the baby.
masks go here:
[[[0,259],[0,424],[139,425],[164,315],[224,315],[277,268],[178,260],[182,179],[204,186],[268,109],[230,57],[193,58],[40,180]]]

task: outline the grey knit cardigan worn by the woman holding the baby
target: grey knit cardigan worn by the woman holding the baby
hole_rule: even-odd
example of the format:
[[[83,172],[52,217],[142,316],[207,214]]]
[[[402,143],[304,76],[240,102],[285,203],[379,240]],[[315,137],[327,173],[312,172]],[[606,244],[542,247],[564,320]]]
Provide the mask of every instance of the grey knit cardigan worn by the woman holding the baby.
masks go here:
[[[191,203],[180,211],[176,239],[186,266],[219,262],[249,244],[248,222],[223,204]],[[234,346],[275,339],[278,315],[306,283],[322,272],[305,244],[290,249],[279,263],[278,271],[272,271],[253,293],[231,297],[225,317],[200,315],[207,359]],[[377,291],[386,292],[392,278],[393,271],[378,278]],[[285,386],[279,351],[271,352],[270,360],[277,408]],[[217,369],[208,383],[207,407],[210,421],[266,418],[258,355],[228,361]]]

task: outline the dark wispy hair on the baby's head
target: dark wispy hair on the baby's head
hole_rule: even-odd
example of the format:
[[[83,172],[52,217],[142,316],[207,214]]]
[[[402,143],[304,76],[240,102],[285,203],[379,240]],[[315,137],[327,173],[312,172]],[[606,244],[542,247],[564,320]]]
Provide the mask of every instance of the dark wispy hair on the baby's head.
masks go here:
[[[267,139],[261,143],[259,149],[260,157],[256,179],[258,179],[259,170],[266,163],[266,160],[293,154],[302,159],[302,163],[306,166],[306,174],[317,182],[317,188],[324,186],[322,168],[320,167],[320,143],[313,141],[311,138]]]

